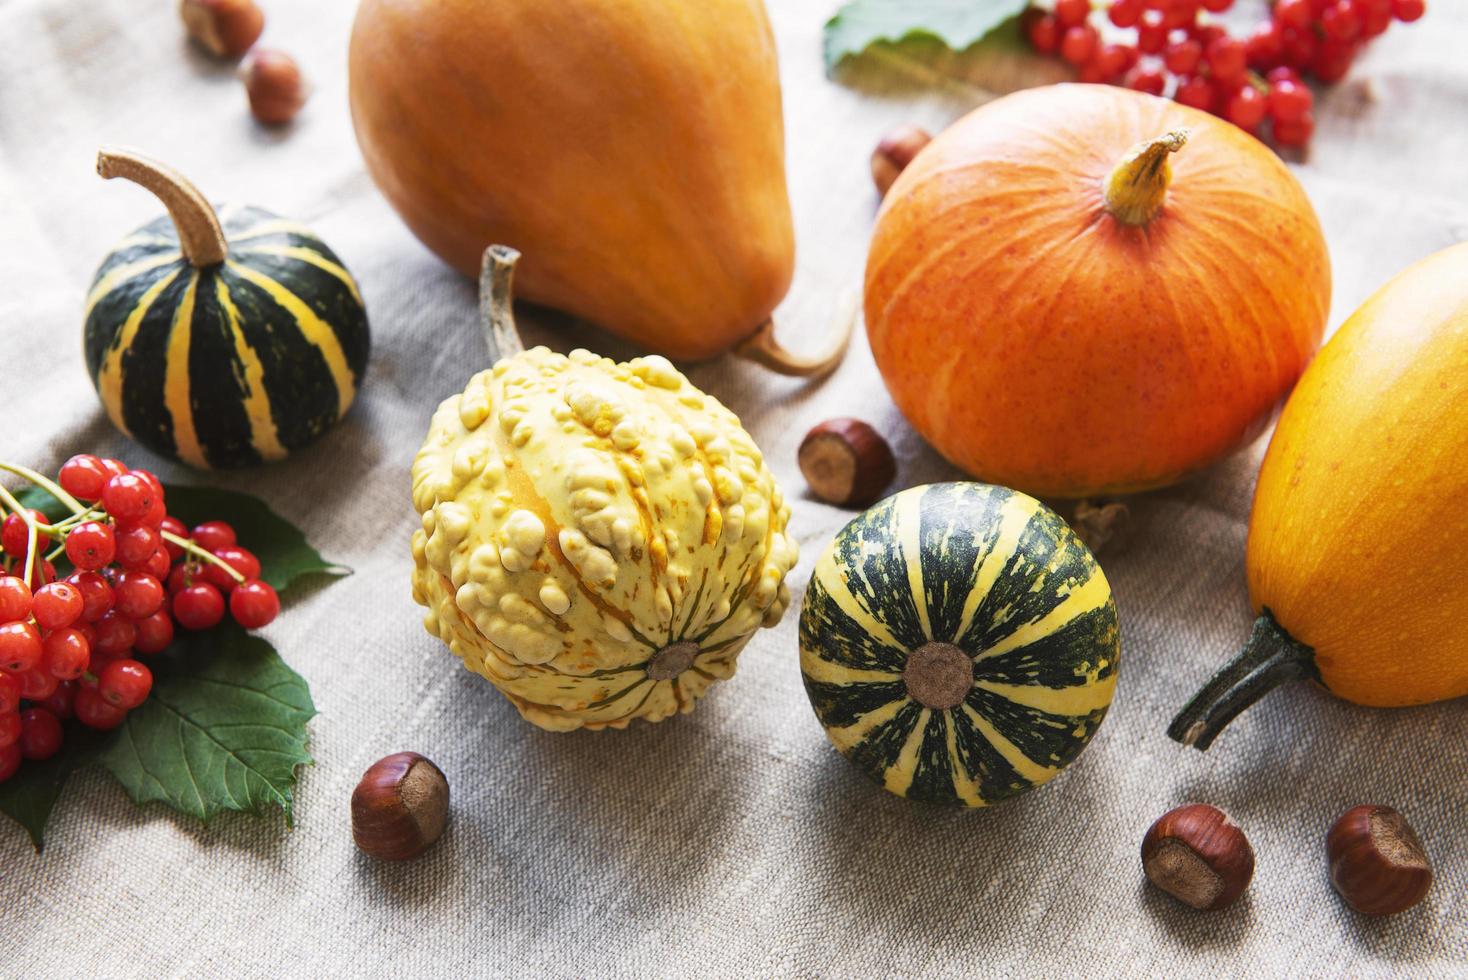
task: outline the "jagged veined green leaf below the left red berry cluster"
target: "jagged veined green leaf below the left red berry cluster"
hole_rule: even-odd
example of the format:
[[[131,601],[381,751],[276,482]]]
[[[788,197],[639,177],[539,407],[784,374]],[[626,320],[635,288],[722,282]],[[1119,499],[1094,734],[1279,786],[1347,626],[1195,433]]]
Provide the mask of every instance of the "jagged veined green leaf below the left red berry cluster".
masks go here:
[[[232,624],[186,635],[166,656],[153,694],[95,761],[134,802],[166,802],[206,823],[220,810],[277,805],[289,826],[295,770],[311,761],[305,679]]]

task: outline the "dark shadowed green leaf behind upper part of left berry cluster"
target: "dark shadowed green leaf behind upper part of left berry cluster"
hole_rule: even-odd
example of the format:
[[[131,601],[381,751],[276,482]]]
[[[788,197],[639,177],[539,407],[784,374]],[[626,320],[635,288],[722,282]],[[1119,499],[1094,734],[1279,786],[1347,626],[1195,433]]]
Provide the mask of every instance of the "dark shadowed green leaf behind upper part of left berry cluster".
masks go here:
[[[302,575],[351,575],[344,565],[327,562],[294,524],[272,511],[258,497],[236,490],[172,484],[163,487],[169,513],[189,527],[204,521],[228,521],[239,535],[239,546],[260,559],[260,578],[276,591],[285,591]],[[28,508],[56,522],[70,511],[41,487],[28,486],[16,497]]]

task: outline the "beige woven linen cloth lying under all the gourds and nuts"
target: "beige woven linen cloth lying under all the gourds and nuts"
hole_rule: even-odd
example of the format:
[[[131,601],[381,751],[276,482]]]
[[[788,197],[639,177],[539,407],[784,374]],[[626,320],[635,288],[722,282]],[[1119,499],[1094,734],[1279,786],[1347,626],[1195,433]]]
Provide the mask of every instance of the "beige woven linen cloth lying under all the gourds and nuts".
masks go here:
[[[311,682],[317,764],[297,829],[201,827],[75,779],[32,854],[0,824],[6,976],[1464,976],[1468,704],[1370,712],[1298,687],[1205,754],[1163,729],[1249,625],[1243,541],[1262,445],[1133,502],[1102,556],[1123,622],[1110,720],[1050,786],[992,811],[907,804],[826,744],[800,688],[796,616],[762,632],[699,709],[627,732],[528,728],[423,632],[408,588],[408,465],[432,408],[483,362],[473,286],[405,230],[367,179],[346,113],[348,0],[269,0],[267,41],[317,85],[292,131],[254,128],[229,70],[189,50],[173,0],[0,0],[0,455],[54,468],[126,453],[79,356],[79,307],[107,248],[159,208],[92,175],[103,141],[175,163],[211,197],[313,224],[361,280],[374,349],[363,398],[319,447],[208,477],[263,496],[357,569],[307,587],[266,635]],[[881,87],[824,78],[831,0],[772,0],[800,260],[791,345],[859,285],[875,210],[866,156],[901,120],[941,126],[982,97],[893,65]],[[1240,0],[1242,7],[1261,6]],[[1468,10],[1434,0],[1321,106],[1298,167],[1334,260],[1337,324],[1408,263],[1468,238]],[[903,73],[912,72],[909,84]],[[627,345],[527,311],[533,340]],[[860,339],[821,386],[731,359],[690,371],[746,421],[794,500],[810,566],[847,513],[803,496],[804,430],[859,414],[903,486],[954,478],[904,425]],[[414,748],[454,816],[424,860],[360,857],[360,773]],[[1186,800],[1233,813],[1258,852],[1238,907],[1196,915],[1147,888],[1138,844]],[[1351,804],[1403,808],[1436,858],[1417,911],[1365,921],[1326,880],[1323,835]]]

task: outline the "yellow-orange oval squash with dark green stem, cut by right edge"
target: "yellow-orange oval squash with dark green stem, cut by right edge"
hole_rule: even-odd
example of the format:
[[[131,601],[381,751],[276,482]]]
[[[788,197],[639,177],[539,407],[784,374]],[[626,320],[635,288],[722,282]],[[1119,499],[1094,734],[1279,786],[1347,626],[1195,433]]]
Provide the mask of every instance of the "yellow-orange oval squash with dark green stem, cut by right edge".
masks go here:
[[[1245,650],[1169,734],[1207,748],[1279,684],[1377,707],[1468,694],[1468,245],[1336,332],[1284,405],[1249,518]]]

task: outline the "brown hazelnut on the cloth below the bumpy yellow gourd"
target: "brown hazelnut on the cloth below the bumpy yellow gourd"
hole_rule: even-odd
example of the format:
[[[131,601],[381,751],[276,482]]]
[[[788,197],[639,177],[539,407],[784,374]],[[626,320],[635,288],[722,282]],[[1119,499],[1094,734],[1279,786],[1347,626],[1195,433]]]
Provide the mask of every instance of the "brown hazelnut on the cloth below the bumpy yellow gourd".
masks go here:
[[[418,753],[379,758],[352,792],[352,839],[374,858],[407,861],[427,851],[449,814],[449,783]]]

